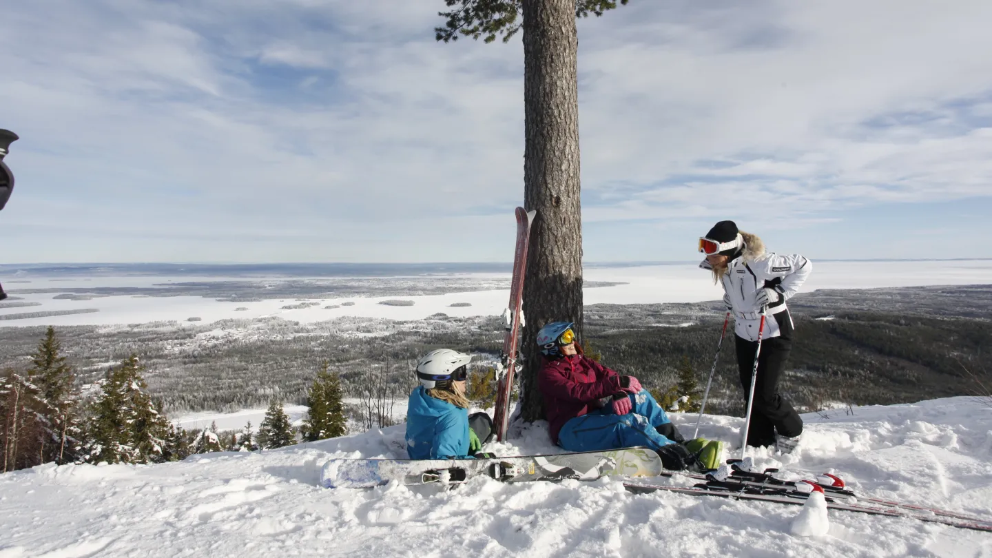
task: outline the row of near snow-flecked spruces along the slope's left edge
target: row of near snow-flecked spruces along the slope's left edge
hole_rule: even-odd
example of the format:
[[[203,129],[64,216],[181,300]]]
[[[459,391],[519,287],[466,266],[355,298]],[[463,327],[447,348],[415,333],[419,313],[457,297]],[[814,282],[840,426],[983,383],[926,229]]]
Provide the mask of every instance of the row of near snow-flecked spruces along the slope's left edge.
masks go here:
[[[215,423],[187,431],[173,424],[162,402],[149,394],[147,369],[136,354],[80,386],[61,345],[49,328],[27,369],[8,369],[0,376],[0,473],[46,463],[166,463],[192,454],[282,448],[295,444],[298,434],[315,441],[348,431],[340,378],[326,363],[307,390],[307,418],[299,428],[290,423],[283,401],[274,397],[257,430],[248,422],[240,432],[218,431]],[[391,411],[387,393],[368,391],[368,405],[358,405],[368,428],[373,418],[377,426],[392,424],[392,413],[382,414]]]

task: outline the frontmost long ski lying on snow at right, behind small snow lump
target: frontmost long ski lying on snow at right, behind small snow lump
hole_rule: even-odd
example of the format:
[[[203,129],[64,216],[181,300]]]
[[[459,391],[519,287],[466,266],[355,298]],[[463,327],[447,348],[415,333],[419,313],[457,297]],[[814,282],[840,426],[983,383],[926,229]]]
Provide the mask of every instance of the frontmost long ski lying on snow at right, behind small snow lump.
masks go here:
[[[711,476],[710,476],[711,477]],[[801,482],[807,487],[811,488],[814,484],[811,482]],[[705,483],[698,483],[694,487],[672,487],[666,485],[640,485],[634,483],[624,483],[624,488],[634,493],[650,493],[659,490],[678,492],[682,494],[690,495],[703,495],[703,496],[718,496],[726,497],[732,499],[750,499],[759,501],[770,501],[775,503],[790,503],[790,504],[803,504],[806,502],[806,498],[809,497],[809,492],[801,489],[799,486],[789,487],[785,485],[771,486],[771,485],[760,485],[750,481],[744,481],[741,479],[728,478],[725,481],[718,481],[715,479],[707,480]],[[823,488],[826,492],[826,488]],[[848,497],[848,496],[843,496]],[[992,524],[987,523],[982,520],[975,520],[972,518],[960,519],[956,517],[947,517],[944,515],[936,515],[928,511],[919,511],[915,509],[909,509],[904,507],[888,506],[888,505],[873,505],[868,503],[851,503],[838,501],[837,497],[832,494],[827,493],[826,495],[826,507],[828,509],[838,509],[842,511],[857,511],[861,513],[870,513],[873,515],[886,515],[890,517],[909,517],[913,519],[918,519],[920,521],[928,521],[931,523],[941,523],[944,525],[950,525],[952,527],[960,527],[963,529],[974,529],[977,531],[987,531],[992,532]]]

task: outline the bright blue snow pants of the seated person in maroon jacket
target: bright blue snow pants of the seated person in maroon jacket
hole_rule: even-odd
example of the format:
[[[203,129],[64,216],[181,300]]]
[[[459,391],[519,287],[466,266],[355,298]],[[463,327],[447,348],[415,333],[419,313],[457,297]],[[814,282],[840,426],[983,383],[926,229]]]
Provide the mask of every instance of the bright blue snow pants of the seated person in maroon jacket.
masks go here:
[[[675,444],[655,430],[672,421],[651,393],[642,389],[629,397],[633,409],[626,415],[618,415],[613,405],[606,405],[564,423],[558,432],[558,446],[569,452],[593,452],[632,446],[658,450]]]

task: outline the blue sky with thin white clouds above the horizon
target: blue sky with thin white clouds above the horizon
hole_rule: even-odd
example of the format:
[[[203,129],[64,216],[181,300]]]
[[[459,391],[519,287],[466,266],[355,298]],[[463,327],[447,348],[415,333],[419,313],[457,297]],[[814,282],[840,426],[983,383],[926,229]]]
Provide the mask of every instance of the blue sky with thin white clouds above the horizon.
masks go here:
[[[579,22],[586,261],[992,257],[992,3],[699,4]],[[523,49],[443,8],[5,6],[4,261],[512,259]]]

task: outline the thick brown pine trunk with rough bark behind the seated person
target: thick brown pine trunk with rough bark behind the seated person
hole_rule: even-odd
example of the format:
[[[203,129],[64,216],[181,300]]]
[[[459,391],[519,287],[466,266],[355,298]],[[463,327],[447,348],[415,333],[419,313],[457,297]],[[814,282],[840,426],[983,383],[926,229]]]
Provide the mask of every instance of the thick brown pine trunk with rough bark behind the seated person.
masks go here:
[[[537,209],[524,285],[523,418],[544,418],[534,340],[548,322],[582,327],[578,37],[574,0],[523,0],[524,205]]]

